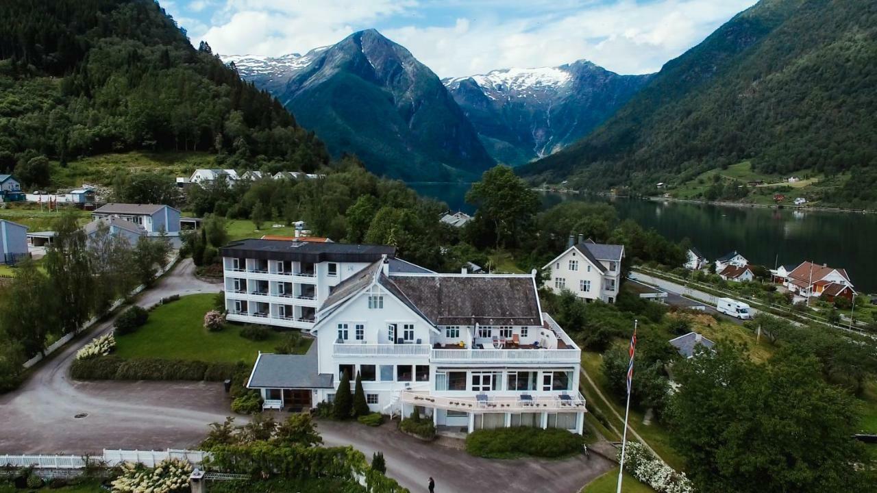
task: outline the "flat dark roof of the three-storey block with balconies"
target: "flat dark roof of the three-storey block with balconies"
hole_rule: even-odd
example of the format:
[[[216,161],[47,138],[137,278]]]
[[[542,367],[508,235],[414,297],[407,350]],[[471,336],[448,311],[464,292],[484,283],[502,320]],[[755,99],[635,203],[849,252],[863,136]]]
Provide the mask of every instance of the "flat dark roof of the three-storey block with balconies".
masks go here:
[[[242,239],[220,248],[219,254],[224,257],[246,257],[274,261],[374,262],[381,260],[384,255],[395,257],[396,247],[277,239]]]

